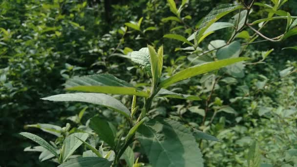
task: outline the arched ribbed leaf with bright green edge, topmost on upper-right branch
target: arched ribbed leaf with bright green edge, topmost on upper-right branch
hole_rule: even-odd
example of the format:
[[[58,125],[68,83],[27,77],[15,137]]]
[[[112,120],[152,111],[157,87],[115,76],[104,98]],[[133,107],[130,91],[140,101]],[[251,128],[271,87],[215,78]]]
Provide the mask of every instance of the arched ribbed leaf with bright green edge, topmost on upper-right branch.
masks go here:
[[[203,36],[205,31],[214,23],[218,21],[223,16],[233,12],[234,10],[240,9],[243,6],[241,5],[233,5],[233,4],[221,4],[212,9],[212,11],[202,20],[197,33],[196,33],[196,41]],[[195,44],[196,45],[196,44]]]

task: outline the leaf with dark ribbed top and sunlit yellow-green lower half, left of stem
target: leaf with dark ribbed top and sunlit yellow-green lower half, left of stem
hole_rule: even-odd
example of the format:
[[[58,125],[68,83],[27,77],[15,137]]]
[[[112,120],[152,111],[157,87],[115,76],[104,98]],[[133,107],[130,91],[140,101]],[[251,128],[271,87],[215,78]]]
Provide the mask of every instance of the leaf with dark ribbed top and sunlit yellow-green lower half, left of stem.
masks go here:
[[[146,92],[110,74],[74,77],[66,82],[65,87],[67,90],[148,97]]]

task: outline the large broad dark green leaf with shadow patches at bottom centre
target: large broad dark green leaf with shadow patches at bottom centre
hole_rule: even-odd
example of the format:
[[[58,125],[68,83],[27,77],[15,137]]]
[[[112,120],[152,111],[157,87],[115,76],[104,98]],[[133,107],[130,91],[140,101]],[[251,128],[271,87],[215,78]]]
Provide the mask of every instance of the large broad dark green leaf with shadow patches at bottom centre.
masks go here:
[[[169,119],[151,120],[137,131],[153,167],[203,167],[195,138],[184,125]]]

